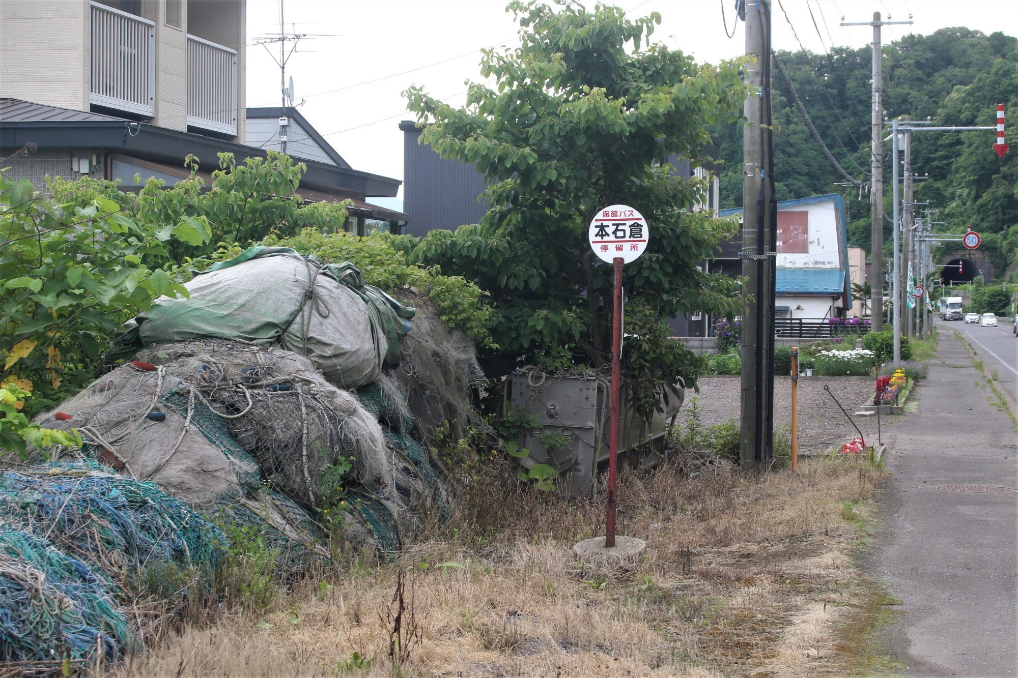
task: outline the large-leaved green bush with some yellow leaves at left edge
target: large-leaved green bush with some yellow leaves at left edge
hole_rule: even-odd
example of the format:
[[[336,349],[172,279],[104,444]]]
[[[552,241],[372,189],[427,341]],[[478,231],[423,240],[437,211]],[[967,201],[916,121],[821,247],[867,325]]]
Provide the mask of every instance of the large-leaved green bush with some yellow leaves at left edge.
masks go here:
[[[157,296],[186,294],[164,268],[168,248],[212,234],[203,216],[144,227],[109,182],[55,181],[50,192],[0,173],[0,384],[31,391],[34,411],[95,377],[121,323]]]

